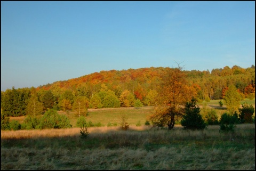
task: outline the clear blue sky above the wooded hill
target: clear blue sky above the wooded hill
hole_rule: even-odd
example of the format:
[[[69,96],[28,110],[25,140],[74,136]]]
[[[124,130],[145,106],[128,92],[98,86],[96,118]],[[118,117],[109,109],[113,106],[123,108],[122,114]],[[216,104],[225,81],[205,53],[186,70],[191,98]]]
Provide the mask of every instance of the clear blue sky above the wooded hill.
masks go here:
[[[255,2],[1,1],[1,91],[176,62],[255,65]]]

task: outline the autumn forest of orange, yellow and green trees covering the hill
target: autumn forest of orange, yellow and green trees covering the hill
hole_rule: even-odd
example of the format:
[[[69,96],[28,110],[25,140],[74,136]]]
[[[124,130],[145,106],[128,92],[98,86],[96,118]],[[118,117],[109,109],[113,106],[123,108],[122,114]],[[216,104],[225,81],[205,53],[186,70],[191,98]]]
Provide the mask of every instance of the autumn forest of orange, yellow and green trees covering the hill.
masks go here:
[[[79,78],[44,86],[1,91],[4,116],[38,115],[47,109],[77,111],[88,108],[140,107],[154,105],[167,68],[140,68],[95,72]],[[207,71],[182,71],[188,86],[196,90],[198,102],[223,99],[228,86],[234,85],[241,99],[255,96],[255,67],[228,66]]]

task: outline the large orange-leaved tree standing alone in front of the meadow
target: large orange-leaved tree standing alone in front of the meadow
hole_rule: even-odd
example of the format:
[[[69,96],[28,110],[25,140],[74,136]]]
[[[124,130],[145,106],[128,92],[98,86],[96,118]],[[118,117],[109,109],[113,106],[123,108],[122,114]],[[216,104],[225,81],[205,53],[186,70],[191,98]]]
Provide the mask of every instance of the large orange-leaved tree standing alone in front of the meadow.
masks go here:
[[[171,130],[175,120],[183,115],[186,102],[196,95],[194,87],[189,87],[186,83],[186,75],[180,67],[166,68],[161,89],[157,95],[155,112],[149,116],[154,126],[167,125]]]

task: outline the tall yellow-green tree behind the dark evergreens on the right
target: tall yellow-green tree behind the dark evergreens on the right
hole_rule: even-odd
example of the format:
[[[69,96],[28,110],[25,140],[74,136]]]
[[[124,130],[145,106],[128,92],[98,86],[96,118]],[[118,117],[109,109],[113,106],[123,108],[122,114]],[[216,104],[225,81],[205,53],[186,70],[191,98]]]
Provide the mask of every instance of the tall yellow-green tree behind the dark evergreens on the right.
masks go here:
[[[234,85],[230,85],[228,87],[228,90],[226,91],[223,99],[227,105],[227,110],[229,110],[230,113],[238,111],[240,107],[241,96],[237,92]]]

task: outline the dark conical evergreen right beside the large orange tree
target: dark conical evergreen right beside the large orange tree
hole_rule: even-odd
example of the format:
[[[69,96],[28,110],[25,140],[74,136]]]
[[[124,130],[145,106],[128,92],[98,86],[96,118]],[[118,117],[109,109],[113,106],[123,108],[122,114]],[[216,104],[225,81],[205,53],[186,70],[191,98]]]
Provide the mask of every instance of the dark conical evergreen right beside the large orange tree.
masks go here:
[[[205,123],[202,115],[200,114],[200,108],[196,106],[196,100],[193,98],[191,102],[187,102],[185,105],[185,115],[181,119],[181,126],[184,129],[204,129],[207,124]]]

